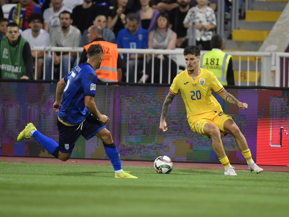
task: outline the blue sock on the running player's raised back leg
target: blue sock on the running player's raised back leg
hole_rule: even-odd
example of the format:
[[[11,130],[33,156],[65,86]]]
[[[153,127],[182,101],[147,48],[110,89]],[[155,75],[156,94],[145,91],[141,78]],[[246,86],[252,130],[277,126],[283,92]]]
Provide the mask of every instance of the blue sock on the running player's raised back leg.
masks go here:
[[[32,136],[43,146],[50,154],[58,158],[59,145],[53,140],[44,136],[38,130],[36,130]]]

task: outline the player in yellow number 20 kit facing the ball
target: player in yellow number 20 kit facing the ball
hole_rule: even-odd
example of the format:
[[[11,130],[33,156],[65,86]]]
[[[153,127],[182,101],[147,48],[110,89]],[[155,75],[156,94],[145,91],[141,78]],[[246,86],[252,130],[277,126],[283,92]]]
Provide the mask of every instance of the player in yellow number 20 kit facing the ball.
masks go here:
[[[213,149],[225,167],[225,175],[237,176],[233,169],[234,167],[231,166],[225,154],[220,133],[223,136],[228,133],[234,136],[238,148],[247,160],[251,172],[263,172],[263,169],[254,163],[247,141],[239,130],[239,127],[232,120],[231,116],[223,113],[221,105],[212,96],[212,89],[225,101],[236,104],[244,110],[248,107],[247,103],[239,102],[238,99],[228,93],[213,72],[199,67],[199,47],[194,45],[187,46],[184,50],[184,56],[188,69],[181,72],[173,80],[169,93],[163,103],[160,129],[163,132],[168,129],[165,118],[172,100],[180,91],[186,106],[187,119],[191,129],[202,136],[213,139]]]

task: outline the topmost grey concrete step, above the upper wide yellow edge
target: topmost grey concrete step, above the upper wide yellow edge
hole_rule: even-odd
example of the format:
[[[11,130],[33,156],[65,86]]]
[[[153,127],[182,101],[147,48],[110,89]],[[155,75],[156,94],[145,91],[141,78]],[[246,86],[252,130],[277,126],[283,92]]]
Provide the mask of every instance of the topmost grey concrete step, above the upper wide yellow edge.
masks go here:
[[[252,1],[252,10],[255,11],[283,11],[288,2]]]

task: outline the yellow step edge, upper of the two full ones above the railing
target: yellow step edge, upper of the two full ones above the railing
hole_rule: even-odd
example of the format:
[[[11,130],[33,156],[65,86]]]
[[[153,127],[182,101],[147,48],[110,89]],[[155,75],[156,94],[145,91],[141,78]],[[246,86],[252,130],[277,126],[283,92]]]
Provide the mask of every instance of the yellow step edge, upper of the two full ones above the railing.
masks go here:
[[[246,11],[246,21],[276,22],[282,11]]]

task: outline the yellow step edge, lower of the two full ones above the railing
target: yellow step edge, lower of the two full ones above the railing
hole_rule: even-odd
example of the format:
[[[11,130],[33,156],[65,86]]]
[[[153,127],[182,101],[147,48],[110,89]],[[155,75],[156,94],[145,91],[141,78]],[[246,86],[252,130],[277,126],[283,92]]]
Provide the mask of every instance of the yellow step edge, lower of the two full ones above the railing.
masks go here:
[[[232,31],[232,40],[235,41],[265,41],[270,30],[243,30]]]

